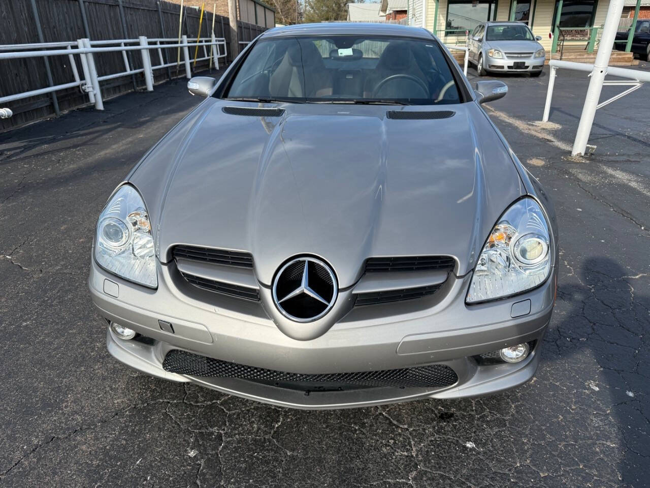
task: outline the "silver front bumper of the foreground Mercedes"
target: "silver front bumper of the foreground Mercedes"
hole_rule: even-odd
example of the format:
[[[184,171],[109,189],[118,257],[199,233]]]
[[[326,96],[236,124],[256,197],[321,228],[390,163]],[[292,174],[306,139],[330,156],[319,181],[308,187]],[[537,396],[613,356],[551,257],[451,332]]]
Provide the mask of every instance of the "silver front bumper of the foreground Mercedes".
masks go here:
[[[107,332],[116,359],[149,375],[191,381],[227,394],[304,409],[363,407],[418,398],[464,398],[493,394],[528,381],[539,363],[539,343],[554,303],[552,276],[536,290],[513,299],[465,305],[469,275],[450,277],[445,297],[428,308],[417,301],[354,308],[324,335],[309,341],[285,336],[259,303],[216,293],[184,293],[174,264],[159,264],[159,288],[129,283],[93,261],[89,286],[100,314],[153,338],[153,345],[125,341]],[[118,297],[104,291],[105,280],[118,284]],[[181,280],[181,281],[179,281]],[[190,285],[187,285],[190,286]],[[114,293],[114,288],[109,288]],[[197,293],[200,299],[196,299]],[[514,303],[530,300],[530,313],[512,318]],[[174,324],[174,334],[158,321]],[[536,341],[530,356],[517,364],[479,366],[473,356],[522,342]],[[367,372],[447,364],[458,382],[444,388],[365,388],[305,392],[242,379],[193,377],[170,373],[162,361],[171,349],[216,359],[294,373]]]

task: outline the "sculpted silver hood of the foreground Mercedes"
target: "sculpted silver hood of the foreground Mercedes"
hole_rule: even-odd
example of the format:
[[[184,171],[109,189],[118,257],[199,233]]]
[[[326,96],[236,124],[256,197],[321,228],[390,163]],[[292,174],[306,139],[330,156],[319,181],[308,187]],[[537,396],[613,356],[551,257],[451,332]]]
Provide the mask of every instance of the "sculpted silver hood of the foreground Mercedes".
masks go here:
[[[370,256],[443,254],[464,275],[525,193],[474,102],[433,107],[454,111],[439,120],[393,120],[379,105],[286,104],[274,118],[224,105],[258,106],[206,100],[129,176],[161,262],[177,244],[248,251],[268,285],[287,258],[313,254],[346,288]]]

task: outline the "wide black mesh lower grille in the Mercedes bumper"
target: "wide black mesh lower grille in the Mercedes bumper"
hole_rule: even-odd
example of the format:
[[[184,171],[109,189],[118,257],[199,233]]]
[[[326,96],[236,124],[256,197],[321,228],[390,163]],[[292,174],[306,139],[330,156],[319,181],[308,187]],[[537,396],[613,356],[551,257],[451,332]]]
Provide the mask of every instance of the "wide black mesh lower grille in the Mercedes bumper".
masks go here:
[[[213,359],[180,349],[165,356],[162,367],[182,375],[237,378],[267,385],[305,391],[328,391],[380,386],[440,388],[458,381],[456,372],[445,364],[402,368],[400,370],[359,373],[301,374],[254,368],[234,362]]]

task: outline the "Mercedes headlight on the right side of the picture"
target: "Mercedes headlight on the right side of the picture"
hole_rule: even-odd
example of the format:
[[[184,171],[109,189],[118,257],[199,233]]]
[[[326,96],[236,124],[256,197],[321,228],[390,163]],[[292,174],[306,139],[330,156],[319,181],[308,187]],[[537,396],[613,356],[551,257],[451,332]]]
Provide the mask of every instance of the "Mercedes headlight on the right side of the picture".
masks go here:
[[[467,303],[517,295],[551,273],[549,226],[539,204],[523,198],[506,210],[478,257]]]

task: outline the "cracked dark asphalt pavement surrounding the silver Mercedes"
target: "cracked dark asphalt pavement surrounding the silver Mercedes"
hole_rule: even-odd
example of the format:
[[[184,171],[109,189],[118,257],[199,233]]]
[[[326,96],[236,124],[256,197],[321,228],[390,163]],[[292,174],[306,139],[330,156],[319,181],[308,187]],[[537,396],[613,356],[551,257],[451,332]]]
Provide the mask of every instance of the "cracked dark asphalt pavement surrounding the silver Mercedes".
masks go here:
[[[560,280],[535,379],[475,400],[295,411],[130,370],[86,286],[95,222],[200,100],[175,81],[0,134],[0,486],[647,486],[650,88],[571,158],[588,78],[559,72],[551,124],[547,70],[502,79],[486,110],[554,198]]]

